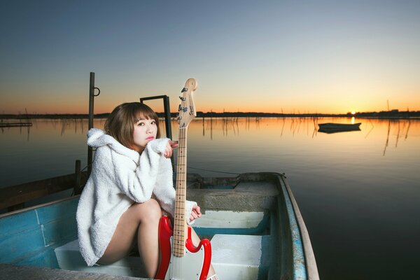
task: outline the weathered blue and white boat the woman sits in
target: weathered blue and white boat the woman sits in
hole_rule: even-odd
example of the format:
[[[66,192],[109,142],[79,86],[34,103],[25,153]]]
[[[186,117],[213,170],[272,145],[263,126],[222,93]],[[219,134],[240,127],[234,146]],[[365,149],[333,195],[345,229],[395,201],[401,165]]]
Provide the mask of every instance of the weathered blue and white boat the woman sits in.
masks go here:
[[[187,186],[187,199],[203,211],[193,228],[211,241],[211,262],[220,279],[319,279],[307,228],[284,174],[188,174]],[[76,195],[1,214],[1,274],[7,279],[139,277],[135,251],[112,265],[85,265],[77,240],[78,200]]]

